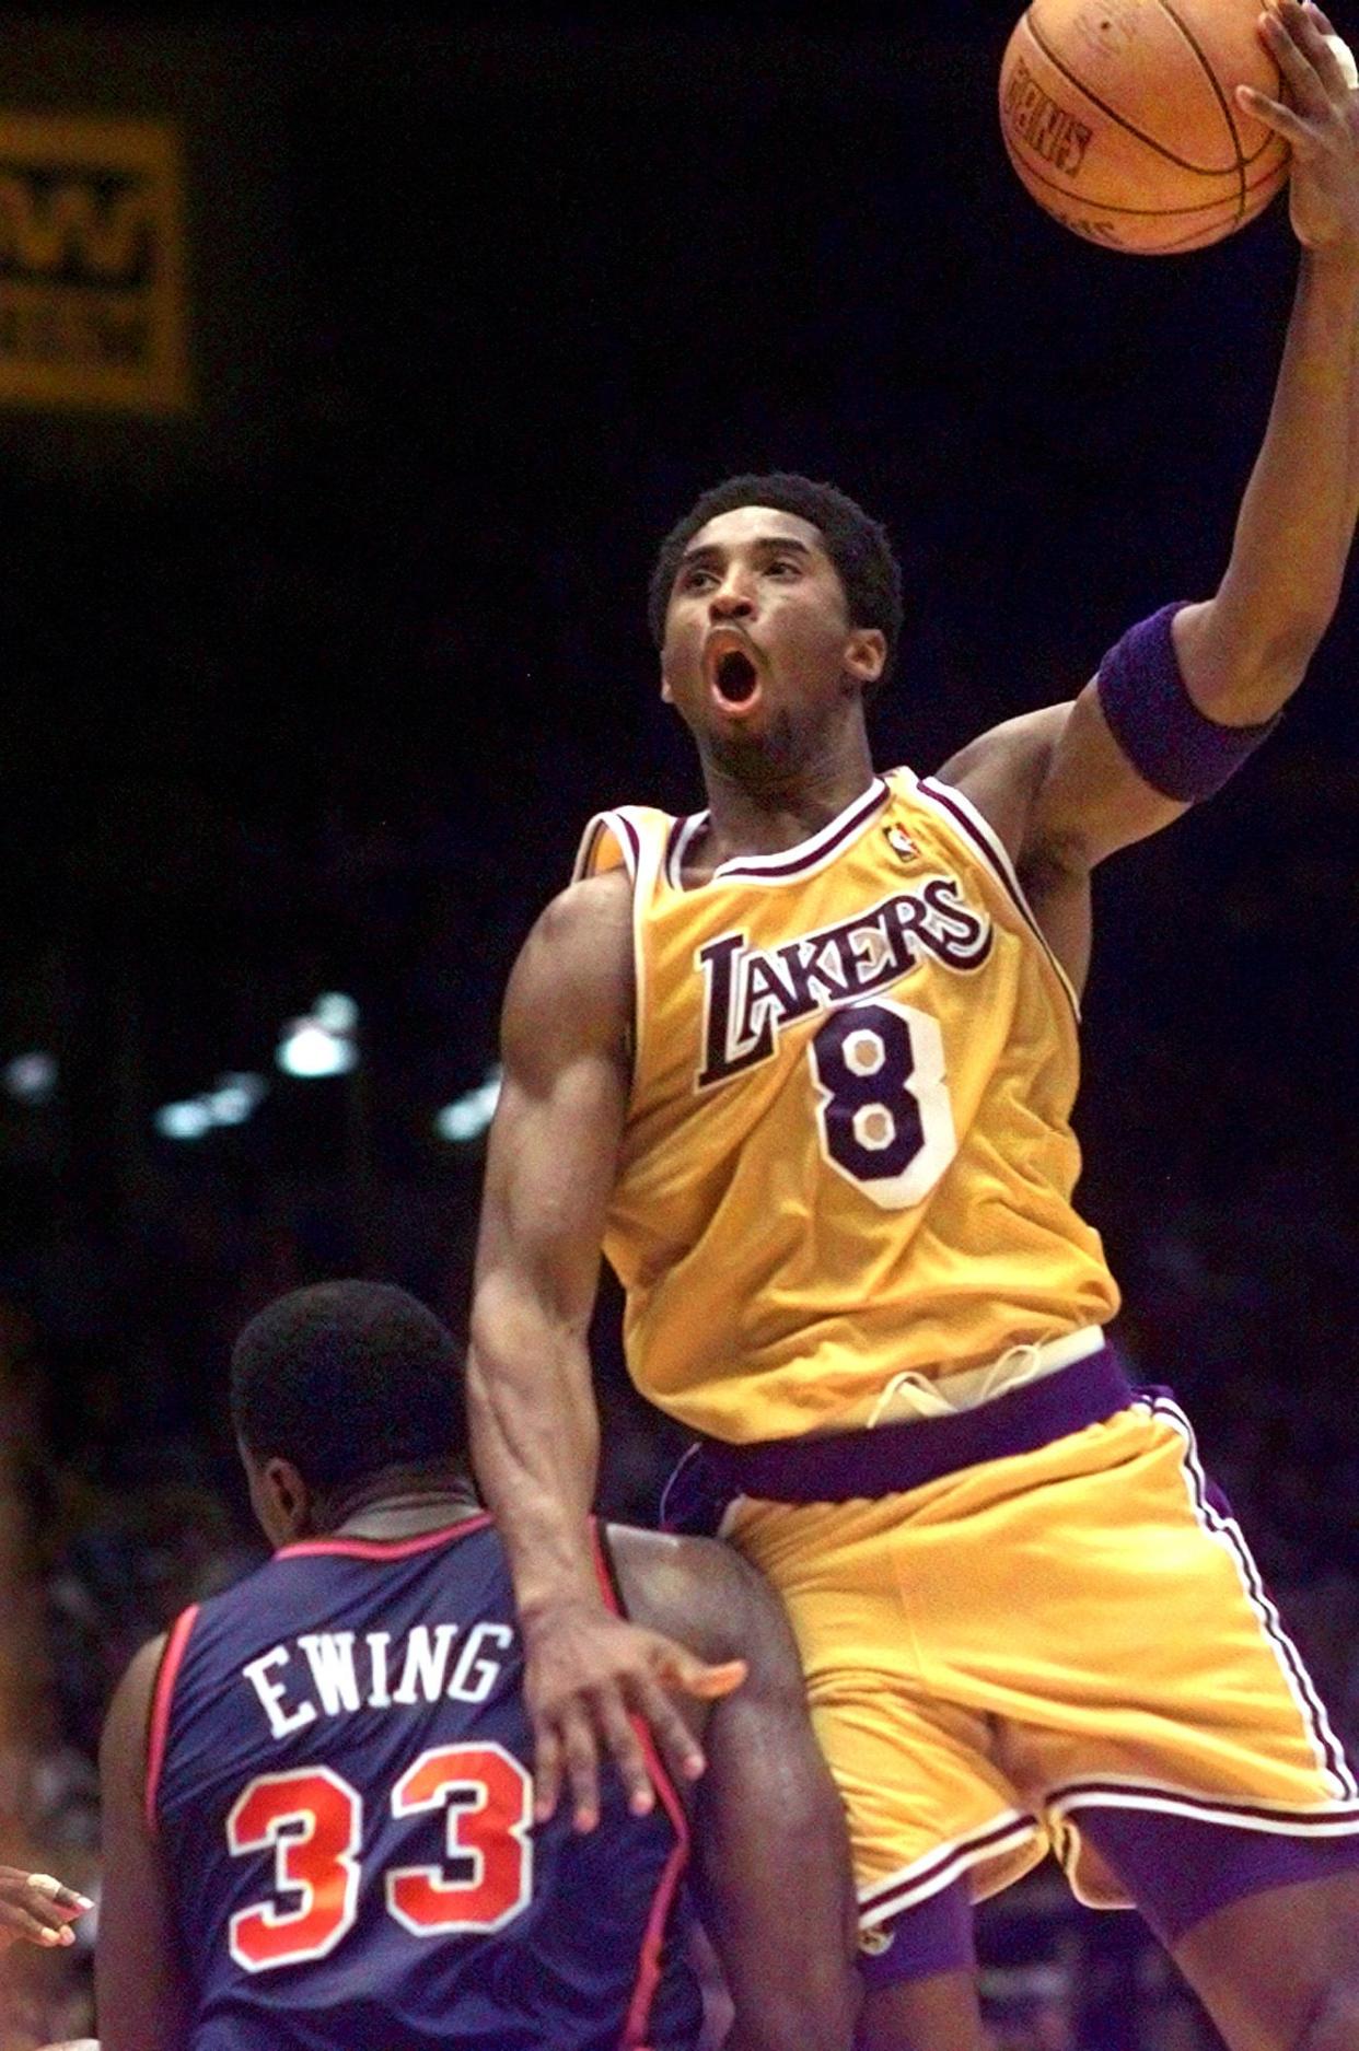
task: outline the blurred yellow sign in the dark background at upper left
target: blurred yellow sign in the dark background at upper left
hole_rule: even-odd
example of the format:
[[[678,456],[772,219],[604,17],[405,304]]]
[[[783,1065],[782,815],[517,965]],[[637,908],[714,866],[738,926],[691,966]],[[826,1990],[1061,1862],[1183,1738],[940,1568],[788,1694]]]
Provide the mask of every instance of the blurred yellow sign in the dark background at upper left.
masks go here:
[[[189,404],[179,133],[0,113],[0,406]]]

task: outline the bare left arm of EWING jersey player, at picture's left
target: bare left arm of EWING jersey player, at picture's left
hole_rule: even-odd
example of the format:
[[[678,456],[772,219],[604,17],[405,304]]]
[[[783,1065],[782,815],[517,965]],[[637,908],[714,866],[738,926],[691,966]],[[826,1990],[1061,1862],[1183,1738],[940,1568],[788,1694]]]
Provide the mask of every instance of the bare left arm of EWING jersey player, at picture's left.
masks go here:
[[[146,1819],[146,1747],[164,1639],[144,1645],[109,1706],[99,1745],[103,1891],[94,1998],[103,2051],[187,2051],[189,1985],[160,1850]]]

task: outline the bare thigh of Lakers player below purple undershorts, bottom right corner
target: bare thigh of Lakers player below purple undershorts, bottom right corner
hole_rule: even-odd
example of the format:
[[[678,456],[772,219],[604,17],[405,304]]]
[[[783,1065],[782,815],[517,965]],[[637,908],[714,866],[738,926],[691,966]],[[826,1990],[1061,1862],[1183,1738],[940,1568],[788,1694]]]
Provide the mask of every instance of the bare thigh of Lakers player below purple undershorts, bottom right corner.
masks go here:
[[[1359,2045],[1359,1873],[1228,1903],[1174,1946],[1230,2051]]]

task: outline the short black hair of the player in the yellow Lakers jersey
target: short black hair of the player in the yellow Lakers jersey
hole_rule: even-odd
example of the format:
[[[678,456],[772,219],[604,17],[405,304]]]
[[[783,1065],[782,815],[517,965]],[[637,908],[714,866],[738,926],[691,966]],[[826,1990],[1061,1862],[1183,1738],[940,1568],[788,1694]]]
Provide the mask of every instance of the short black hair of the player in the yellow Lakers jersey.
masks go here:
[[[737,507],[774,507],[778,513],[794,513],[819,531],[825,554],[840,572],[850,624],[877,628],[887,642],[887,662],[879,679],[887,683],[901,640],[901,564],[887,529],[838,484],[813,484],[792,470],[774,470],[764,478],[727,478],[696,498],[684,519],[675,521],[651,570],[647,617],[657,648],[665,640],[665,607],[680,574],[680,558],[700,527],[719,513],[735,513]]]

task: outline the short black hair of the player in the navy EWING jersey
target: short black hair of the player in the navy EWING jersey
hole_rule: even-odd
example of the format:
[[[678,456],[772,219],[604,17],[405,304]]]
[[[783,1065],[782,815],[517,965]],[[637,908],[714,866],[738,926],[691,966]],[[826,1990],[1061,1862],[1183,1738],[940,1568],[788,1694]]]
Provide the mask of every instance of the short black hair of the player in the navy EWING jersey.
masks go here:
[[[388,1282],[289,1290],[232,1348],[232,1423],[255,1460],[292,1460],[322,1493],[384,1466],[460,1462],[462,1350]]]

